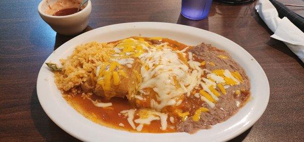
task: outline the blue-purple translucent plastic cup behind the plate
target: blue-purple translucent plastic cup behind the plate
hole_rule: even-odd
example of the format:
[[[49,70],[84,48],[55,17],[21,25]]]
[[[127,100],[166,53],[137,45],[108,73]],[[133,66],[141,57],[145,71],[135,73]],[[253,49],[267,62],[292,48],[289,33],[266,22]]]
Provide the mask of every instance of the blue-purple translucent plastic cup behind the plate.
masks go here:
[[[208,17],[212,0],[182,0],[181,14],[192,20],[201,20]]]

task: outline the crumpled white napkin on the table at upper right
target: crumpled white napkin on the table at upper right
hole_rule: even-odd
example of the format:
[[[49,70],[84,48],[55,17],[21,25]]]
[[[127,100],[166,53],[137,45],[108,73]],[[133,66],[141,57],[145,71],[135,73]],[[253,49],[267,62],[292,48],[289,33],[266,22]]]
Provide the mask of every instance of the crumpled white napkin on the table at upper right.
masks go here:
[[[255,9],[274,32],[270,37],[284,42],[304,62],[304,33],[287,17],[279,18],[278,11],[268,0],[259,0]]]

